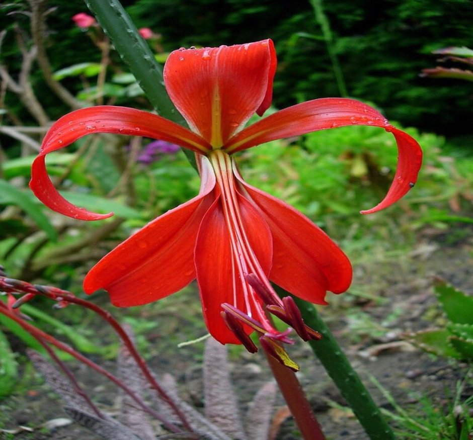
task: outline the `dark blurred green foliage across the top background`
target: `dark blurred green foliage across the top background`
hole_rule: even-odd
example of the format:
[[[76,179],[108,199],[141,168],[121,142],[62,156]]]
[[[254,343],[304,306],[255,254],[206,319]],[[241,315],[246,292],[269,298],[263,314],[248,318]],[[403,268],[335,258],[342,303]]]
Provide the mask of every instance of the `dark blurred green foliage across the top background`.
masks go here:
[[[272,2],[261,0],[125,0],[122,2],[137,27],[149,27],[163,36],[165,50],[180,46],[218,46],[264,38],[275,41],[279,66],[275,82],[278,108],[308,99],[339,96],[334,72],[320,26],[308,0]],[[80,2],[50,0],[56,8],[47,20],[48,54],[54,70],[72,63],[100,61],[87,32],[76,28],[71,17],[87,12]],[[467,45],[473,13],[469,0],[401,0],[370,2],[337,0],[324,2],[348,93],[375,102],[388,119],[405,126],[448,136],[471,135],[471,85],[455,79],[421,78],[419,73],[435,62],[435,49]],[[8,31],[2,58],[19,67],[13,29],[27,32],[26,2],[2,6],[0,27]],[[67,54],[67,56],[64,56]],[[121,61],[111,53],[112,64]],[[67,109],[44,87],[37,70],[33,85],[46,102],[52,119]],[[64,78],[73,91],[83,84]],[[24,109],[7,96],[7,104],[21,117]],[[471,144],[471,142],[470,142]],[[464,145],[464,147],[469,147]],[[471,147],[469,147],[471,149]]]

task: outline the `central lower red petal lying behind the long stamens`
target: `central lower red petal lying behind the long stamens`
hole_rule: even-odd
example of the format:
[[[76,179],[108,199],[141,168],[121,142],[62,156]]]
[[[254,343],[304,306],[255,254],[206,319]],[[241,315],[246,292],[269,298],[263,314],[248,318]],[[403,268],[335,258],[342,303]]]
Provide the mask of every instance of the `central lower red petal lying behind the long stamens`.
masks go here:
[[[271,269],[272,239],[268,225],[252,204],[238,195],[243,229],[251,249],[255,252],[263,272],[269,275]],[[225,221],[222,203],[214,202],[202,219],[195,247],[195,267],[202,301],[202,311],[210,334],[221,343],[241,343],[226,326],[220,316],[222,303],[229,303],[258,319],[253,301],[261,302],[255,296],[245,302],[245,289],[249,289],[244,279],[248,268],[242,267],[239,257],[231,248],[229,225]],[[249,306],[249,307],[248,307]],[[247,334],[253,329],[244,325]]]

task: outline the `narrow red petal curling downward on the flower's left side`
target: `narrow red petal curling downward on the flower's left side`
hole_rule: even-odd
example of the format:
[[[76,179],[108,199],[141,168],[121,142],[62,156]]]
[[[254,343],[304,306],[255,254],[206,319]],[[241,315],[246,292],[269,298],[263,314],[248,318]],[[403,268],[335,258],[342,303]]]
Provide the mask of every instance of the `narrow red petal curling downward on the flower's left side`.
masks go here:
[[[81,220],[100,220],[113,214],[95,214],[67,202],[49,179],[45,156],[91,133],[146,136],[172,142],[196,152],[209,149],[207,142],[190,130],[141,110],[97,106],[68,113],[58,119],[44,137],[40,153],[31,168],[30,188],[52,210]]]

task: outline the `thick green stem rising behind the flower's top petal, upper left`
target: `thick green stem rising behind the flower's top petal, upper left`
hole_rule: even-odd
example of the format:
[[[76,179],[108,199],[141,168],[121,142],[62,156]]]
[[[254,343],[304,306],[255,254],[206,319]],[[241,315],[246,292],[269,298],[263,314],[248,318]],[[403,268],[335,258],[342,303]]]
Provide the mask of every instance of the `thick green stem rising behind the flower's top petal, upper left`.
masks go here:
[[[186,125],[164,86],[163,69],[154,59],[148,44],[138,34],[130,16],[118,0],[85,0],[104,32],[128,65],[156,112],[170,121]],[[197,169],[194,153],[182,149]]]

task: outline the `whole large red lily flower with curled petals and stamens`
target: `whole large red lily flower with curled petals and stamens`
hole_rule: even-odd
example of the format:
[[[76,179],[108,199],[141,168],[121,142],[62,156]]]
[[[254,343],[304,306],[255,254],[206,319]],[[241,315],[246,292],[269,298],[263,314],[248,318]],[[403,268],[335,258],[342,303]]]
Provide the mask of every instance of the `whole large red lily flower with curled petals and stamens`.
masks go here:
[[[244,128],[272,99],[276,54],[271,40],[231,47],[179,49],[164,69],[167,91],[190,130],[151,113],[111,106],[81,109],[59,119],[46,134],[32,167],[31,189],[64,215],[98,220],[64,200],[45,169],[45,155],[90,133],[161,139],[196,153],[202,178],[192,200],[151,221],[103,257],[84,280],[87,293],[109,292],[116,306],[146,304],[177,292],[197,278],[209,332],[222,343],[244,343],[257,330],[264,346],[290,342],[269,321],[267,310],[290,323],[304,339],[304,326],[290,299],[282,301],[270,281],[306,301],[326,304],[327,291],[344,292],[348,258],[316,225],[284,202],[248,185],[232,154],[283,137],[346,125],[374,125],[391,132],[399,150],[395,179],[384,200],[364,211],[386,208],[414,186],[422,161],[418,143],[358,101],[326,98],[281,110]],[[223,317],[223,319],[222,319]],[[279,355],[278,355],[279,356]]]

